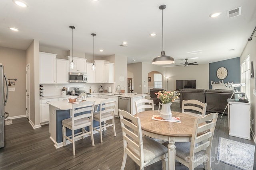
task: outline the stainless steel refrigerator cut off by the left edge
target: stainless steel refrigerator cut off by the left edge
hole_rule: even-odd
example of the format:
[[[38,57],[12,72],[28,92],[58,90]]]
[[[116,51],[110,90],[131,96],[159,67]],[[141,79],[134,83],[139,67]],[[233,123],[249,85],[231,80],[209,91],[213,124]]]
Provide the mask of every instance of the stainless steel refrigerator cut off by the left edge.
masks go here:
[[[4,94],[6,84],[6,95]],[[0,148],[4,147],[4,119],[5,111],[4,107],[6,106],[8,98],[8,86],[7,78],[4,74],[4,66],[0,63]]]

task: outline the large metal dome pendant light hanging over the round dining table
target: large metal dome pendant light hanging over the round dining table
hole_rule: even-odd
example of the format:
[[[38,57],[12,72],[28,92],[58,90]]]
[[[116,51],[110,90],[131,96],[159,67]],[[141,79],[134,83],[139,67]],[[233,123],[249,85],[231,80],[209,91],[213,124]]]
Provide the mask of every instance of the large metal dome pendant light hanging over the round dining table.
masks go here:
[[[166,8],[166,5],[159,6],[159,9],[162,10],[162,52],[161,55],[152,60],[152,64],[172,64],[175,63],[174,58],[165,55],[164,52],[164,21],[163,21],[163,10]]]

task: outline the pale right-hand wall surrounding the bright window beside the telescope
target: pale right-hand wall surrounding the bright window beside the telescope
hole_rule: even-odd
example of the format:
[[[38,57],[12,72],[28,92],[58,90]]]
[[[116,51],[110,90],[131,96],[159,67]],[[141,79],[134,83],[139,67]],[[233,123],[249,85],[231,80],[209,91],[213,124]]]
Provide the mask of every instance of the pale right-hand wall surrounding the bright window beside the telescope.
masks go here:
[[[254,36],[256,33],[254,33]],[[240,62],[246,59],[246,57],[250,55],[250,63],[251,61],[254,64],[254,75],[256,75],[256,37],[253,37],[251,41],[247,42],[246,47],[240,57]],[[255,119],[256,119],[256,96],[253,94],[253,90],[256,89],[255,79],[250,79],[250,104],[251,104],[251,119],[254,119],[254,125],[252,125],[252,131],[254,132],[254,137],[256,134],[256,126],[255,126]]]

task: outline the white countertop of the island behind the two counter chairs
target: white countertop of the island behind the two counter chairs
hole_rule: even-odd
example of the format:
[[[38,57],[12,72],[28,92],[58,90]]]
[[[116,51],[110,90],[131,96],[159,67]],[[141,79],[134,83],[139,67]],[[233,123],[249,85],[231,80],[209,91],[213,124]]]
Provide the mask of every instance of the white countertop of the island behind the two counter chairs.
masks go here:
[[[103,98],[86,98],[86,101],[95,101],[95,105],[100,104],[100,101],[104,100]],[[47,104],[56,107],[60,110],[70,110],[74,104],[67,102],[66,100],[46,102]]]

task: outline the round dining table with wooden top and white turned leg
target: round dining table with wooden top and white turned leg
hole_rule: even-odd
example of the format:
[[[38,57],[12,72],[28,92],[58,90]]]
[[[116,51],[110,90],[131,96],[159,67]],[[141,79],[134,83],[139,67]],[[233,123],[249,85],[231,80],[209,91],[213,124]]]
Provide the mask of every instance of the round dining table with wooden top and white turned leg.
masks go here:
[[[191,141],[194,121],[197,117],[172,111],[173,117],[180,117],[181,123],[152,120],[153,115],[160,115],[159,111],[142,111],[135,114],[140,118],[142,134],[168,141],[168,168],[175,170],[175,142]],[[166,167],[167,168],[167,167]]]

